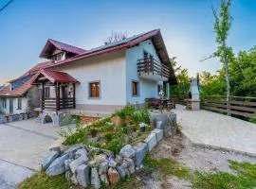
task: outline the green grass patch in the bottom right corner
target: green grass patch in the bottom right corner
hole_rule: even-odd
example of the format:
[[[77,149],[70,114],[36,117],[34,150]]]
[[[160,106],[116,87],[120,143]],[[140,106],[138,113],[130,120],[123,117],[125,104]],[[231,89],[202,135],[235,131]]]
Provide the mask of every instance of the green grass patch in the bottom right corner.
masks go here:
[[[236,175],[220,172],[195,172],[192,186],[196,189],[252,189],[256,187],[256,164],[229,161]]]

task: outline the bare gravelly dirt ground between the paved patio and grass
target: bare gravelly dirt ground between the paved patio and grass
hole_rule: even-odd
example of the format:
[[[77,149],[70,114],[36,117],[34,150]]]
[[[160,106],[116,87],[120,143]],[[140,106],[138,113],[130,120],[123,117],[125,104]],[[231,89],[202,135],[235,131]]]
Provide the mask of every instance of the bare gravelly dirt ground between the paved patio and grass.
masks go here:
[[[228,160],[256,163],[256,157],[230,151],[212,149],[210,147],[193,146],[181,133],[162,140],[152,151],[154,158],[173,158],[183,163],[192,173],[195,170],[206,172],[229,172]],[[147,189],[188,189],[192,188],[189,180],[179,180],[174,176],[159,178],[157,172],[141,177]]]

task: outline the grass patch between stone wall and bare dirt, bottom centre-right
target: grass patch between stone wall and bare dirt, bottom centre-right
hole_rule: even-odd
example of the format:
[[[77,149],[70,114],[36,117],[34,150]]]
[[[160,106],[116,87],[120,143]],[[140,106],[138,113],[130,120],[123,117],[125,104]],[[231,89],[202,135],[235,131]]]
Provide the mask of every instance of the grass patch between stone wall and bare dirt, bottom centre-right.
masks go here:
[[[174,159],[161,158],[155,160],[148,154],[144,164],[146,172],[159,170],[163,175],[174,175],[179,179],[189,179],[191,177],[189,169]]]

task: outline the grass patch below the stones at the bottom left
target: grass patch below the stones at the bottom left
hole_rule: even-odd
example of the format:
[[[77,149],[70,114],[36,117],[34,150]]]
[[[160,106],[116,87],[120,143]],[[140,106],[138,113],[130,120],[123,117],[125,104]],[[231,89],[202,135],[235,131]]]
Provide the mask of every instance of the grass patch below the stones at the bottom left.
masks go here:
[[[75,188],[71,182],[65,180],[64,175],[48,177],[44,172],[35,173],[17,186],[18,189],[71,189]]]

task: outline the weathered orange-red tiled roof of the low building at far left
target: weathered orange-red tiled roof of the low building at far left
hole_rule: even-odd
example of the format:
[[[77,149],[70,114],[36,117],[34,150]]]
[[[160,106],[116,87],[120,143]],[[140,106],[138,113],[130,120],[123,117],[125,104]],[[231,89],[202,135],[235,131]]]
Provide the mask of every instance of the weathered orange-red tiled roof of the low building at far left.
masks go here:
[[[31,77],[27,80],[27,82],[13,91],[10,90],[10,85],[4,87],[4,89],[0,90],[0,96],[22,96],[26,94],[27,91],[32,87],[31,81],[33,78],[34,77]]]

